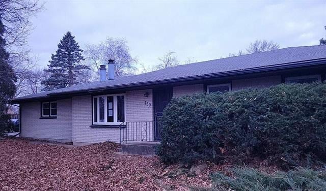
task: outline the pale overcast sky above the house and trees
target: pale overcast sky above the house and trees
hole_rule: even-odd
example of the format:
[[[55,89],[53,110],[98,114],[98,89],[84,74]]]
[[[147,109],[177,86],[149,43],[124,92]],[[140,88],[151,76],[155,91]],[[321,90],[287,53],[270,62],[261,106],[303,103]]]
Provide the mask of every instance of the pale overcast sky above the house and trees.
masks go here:
[[[47,1],[32,20],[32,53],[48,64],[69,30],[80,47],[106,37],[128,41],[147,66],[175,51],[180,61],[217,59],[256,39],[281,48],[318,45],[325,37],[326,1]]]

